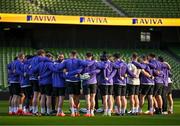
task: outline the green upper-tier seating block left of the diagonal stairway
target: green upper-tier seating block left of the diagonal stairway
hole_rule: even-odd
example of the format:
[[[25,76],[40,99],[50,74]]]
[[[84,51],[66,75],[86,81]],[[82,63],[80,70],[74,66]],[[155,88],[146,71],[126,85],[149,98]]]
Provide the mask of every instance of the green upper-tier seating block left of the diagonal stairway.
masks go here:
[[[1,13],[118,16],[102,0],[1,0]]]

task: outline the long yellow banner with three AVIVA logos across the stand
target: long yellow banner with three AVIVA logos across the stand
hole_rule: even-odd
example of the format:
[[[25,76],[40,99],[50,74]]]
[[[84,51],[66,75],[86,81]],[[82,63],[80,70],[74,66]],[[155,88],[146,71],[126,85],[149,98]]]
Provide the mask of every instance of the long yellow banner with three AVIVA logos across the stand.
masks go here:
[[[65,15],[1,14],[0,22],[104,26],[180,26],[180,18],[127,18]]]

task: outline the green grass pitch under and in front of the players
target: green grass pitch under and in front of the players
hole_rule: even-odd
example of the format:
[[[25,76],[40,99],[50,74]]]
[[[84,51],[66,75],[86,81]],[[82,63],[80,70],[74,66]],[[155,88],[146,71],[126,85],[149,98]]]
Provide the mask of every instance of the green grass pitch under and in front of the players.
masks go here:
[[[84,101],[81,101],[81,106],[85,106]],[[180,125],[180,99],[174,101],[174,114],[155,116],[103,117],[102,114],[88,118],[82,115],[74,118],[69,116],[8,116],[7,109],[8,102],[0,101],[0,125]],[[69,114],[67,101],[64,104],[64,110]]]

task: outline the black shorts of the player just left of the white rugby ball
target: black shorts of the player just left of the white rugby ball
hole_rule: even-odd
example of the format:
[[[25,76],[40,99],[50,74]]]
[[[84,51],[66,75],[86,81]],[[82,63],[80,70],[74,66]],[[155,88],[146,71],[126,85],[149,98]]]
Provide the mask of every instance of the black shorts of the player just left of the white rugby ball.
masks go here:
[[[81,82],[66,82],[68,94],[80,95]]]

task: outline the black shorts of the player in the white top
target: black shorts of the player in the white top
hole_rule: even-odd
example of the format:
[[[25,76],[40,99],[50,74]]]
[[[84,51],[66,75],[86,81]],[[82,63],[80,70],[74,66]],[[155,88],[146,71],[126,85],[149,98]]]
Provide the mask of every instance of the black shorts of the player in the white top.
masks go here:
[[[131,85],[131,84],[127,84],[127,92],[128,95],[139,95],[139,86],[140,85]]]

